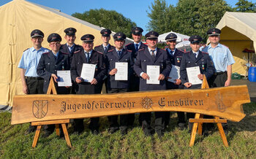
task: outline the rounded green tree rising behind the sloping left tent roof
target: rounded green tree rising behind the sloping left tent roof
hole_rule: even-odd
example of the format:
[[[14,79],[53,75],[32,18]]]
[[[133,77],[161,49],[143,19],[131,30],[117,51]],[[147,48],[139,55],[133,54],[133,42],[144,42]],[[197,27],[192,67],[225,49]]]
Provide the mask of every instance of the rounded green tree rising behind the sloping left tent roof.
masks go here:
[[[136,23],[132,22],[132,20],[125,18],[124,15],[113,10],[90,9],[83,13],[75,12],[72,16],[96,26],[109,28],[114,32],[121,31],[130,38],[132,37],[132,28],[136,26]]]

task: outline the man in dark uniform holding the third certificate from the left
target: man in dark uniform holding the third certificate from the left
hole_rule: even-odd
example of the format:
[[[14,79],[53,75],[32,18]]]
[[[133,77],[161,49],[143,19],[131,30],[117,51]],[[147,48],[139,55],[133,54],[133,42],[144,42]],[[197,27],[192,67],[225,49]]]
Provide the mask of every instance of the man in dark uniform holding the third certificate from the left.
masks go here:
[[[116,33],[114,36],[116,48],[109,50],[107,54],[107,66],[108,66],[108,93],[124,93],[129,90],[129,80],[133,70],[133,61],[131,51],[125,50],[124,43],[127,36],[121,32]],[[118,72],[116,69],[116,62],[128,64],[128,79],[127,80],[115,80],[115,74]],[[127,134],[127,126],[130,115],[120,115],[120,131],[121,134]],[[132,114],[134,117],[134,114]],[[133,118],[132,118],[133,119]],[[109,133],[114,133],[118,130],[118,115],[109,116],[110,122]]]

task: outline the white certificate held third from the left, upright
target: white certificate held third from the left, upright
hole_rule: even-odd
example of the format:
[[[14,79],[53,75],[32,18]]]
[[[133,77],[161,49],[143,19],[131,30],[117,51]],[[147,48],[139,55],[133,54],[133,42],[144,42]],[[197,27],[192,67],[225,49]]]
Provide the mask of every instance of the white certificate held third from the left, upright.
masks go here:
[[[115,80],[128,80],[128,63],[117,63]]]

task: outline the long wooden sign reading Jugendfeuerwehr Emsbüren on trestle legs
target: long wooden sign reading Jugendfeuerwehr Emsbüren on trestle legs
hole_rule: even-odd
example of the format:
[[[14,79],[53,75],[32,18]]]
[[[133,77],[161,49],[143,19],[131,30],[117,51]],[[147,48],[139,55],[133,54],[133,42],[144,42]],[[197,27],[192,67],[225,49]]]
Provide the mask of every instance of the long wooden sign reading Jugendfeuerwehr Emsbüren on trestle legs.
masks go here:
[[[197,90],[158,90],[135,93],[97,94],[97,95],[56,95],[51,82],[48,91],[53,94],[14,96],[12,107],[12,125],[32,123],[40,130],[41,125],[61,124],[69,147],[71,143],[65,123],[70,119],[85,117],[103,117],[124,115],[136,112],[194,112],[195,123],[192,129],[190,146],[195,142],[195,134],[202,133],[202,123],[217,123],[225,146],[227,139],[221,123],[227,120],[239,122],[245,115],[242,104],[249,103],[246,85],[225,88],[207,88],[206,78],[203,89]],[[206,89],[207,88],[207,89]],[[215,119],[203,119],[202,115],[211,115]],[[224,119],[219,119],[222,117]],[[59,128],[56,129],[57,133]],[[39,131],[34,137],[36,146]]]

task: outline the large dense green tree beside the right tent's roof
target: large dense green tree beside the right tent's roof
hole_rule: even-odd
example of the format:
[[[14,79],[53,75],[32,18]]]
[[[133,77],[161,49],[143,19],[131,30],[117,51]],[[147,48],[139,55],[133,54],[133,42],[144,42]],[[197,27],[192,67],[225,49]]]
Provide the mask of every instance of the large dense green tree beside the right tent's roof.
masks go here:
[[[189,36],[198,34],[206,41],[206,31],[216,27],[225,12],[231,10],[224,0],[180,0],[176,7],[177,31]]]

